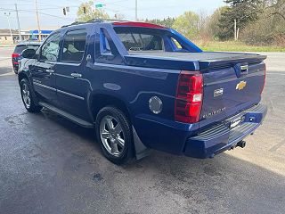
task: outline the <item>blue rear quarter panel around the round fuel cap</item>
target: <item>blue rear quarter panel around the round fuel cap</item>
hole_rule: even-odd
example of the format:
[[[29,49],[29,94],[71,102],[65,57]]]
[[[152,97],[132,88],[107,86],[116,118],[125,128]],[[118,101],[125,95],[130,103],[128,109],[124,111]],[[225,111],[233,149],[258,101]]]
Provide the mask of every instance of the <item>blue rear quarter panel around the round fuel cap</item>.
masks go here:
[[[186,139],[179,132],[188,132],[190,126],[177,124],[174,119],[180,70],[88,63],[85,72],[86,78],[93,83],[95,93],[112,95],[126,103],[132,124],[143,144],[166,152],[182,152]],[[152,96],[158,96],[162,101],[159,114],[150,110]]]

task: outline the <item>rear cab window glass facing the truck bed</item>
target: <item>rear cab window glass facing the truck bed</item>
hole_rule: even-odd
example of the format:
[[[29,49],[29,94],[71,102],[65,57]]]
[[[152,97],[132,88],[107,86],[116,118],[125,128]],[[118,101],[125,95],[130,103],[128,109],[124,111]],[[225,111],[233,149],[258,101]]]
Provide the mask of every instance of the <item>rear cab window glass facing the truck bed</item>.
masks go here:
[[[143,32],[137,29],[115,28],[118,37],[127,51],[164,51],[162,37],[155,32]]]

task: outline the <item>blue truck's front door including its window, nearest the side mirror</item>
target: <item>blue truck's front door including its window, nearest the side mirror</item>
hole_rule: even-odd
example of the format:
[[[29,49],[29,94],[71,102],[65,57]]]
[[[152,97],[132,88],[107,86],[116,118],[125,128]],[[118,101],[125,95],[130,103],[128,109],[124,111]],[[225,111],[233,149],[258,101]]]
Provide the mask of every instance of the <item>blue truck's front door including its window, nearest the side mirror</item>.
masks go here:
[[[37,95],[46,103],[58,105],[54,70],[57,67],[61,42],[61,33],[52,34],[39,50],[37,61],[30,68],[31,78]]]

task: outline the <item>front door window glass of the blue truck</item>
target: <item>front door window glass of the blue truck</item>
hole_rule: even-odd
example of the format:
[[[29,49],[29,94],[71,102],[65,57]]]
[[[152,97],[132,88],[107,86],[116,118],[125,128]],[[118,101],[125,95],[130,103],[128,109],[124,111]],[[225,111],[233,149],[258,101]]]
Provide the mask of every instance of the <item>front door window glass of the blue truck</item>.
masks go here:
[[[56,33],[51,37],[48,37],[41,48],[40,59],[44,61],[57,61],[60,51],[60,41],[60,33]]]

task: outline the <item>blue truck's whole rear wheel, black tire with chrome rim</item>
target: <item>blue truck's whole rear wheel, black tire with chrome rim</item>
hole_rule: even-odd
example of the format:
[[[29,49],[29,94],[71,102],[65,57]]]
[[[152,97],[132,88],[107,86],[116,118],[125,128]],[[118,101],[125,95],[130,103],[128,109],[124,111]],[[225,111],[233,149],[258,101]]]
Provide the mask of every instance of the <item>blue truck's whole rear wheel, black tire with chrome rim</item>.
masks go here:
[[[134,139],[126,115],[116,107],[107,106],[97,114],[95,130],[104,156],[121,165],[134,157]]]

